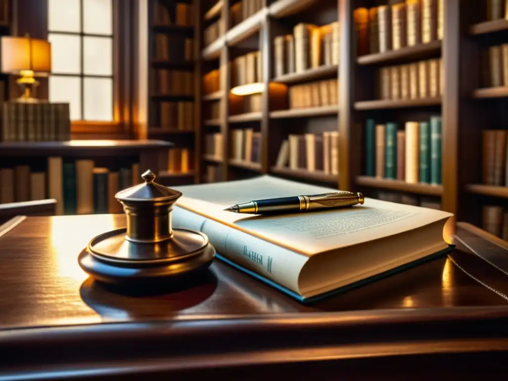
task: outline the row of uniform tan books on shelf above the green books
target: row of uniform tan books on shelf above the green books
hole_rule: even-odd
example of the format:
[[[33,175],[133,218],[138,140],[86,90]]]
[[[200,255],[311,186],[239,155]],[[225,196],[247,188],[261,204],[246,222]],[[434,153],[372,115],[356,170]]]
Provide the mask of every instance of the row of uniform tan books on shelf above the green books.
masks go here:
[[[418,99],[443,93],[442,59],[379,69],[379,99]]]

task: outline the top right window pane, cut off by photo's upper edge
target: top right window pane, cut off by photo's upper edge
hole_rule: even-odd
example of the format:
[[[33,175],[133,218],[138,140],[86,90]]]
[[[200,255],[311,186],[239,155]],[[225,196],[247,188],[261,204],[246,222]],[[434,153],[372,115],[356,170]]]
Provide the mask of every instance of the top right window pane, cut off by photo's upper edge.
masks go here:
[[[83,0],[83,31],[92,35],[112,35],[111,0]]]

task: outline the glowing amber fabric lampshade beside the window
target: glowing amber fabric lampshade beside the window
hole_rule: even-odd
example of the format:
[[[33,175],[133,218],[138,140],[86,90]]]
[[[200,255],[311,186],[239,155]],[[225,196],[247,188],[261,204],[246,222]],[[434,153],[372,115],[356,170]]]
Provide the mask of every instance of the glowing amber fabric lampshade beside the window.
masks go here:
[[[2,37],[2,73],[31,70],[36,76],[51,72],[51,44],[29,37]]]

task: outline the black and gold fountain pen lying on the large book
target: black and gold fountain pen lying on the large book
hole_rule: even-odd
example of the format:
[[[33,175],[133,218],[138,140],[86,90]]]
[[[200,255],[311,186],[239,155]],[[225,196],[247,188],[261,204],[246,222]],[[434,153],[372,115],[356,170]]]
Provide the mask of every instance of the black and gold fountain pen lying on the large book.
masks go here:
[[[255,200],[243,204],[235,204],[224,210],[248,214],[283,214],[342,208],[363,203],[364,198],[361,193],[340,191],[313,196]]]

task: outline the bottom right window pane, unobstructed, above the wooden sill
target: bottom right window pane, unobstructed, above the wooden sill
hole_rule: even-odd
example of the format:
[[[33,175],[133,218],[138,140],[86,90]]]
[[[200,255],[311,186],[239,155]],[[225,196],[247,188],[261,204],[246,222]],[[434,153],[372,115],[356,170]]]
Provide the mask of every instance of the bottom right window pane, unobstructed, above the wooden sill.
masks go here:
[[[113,120],[113,80],[84,78],[84,119]]]

